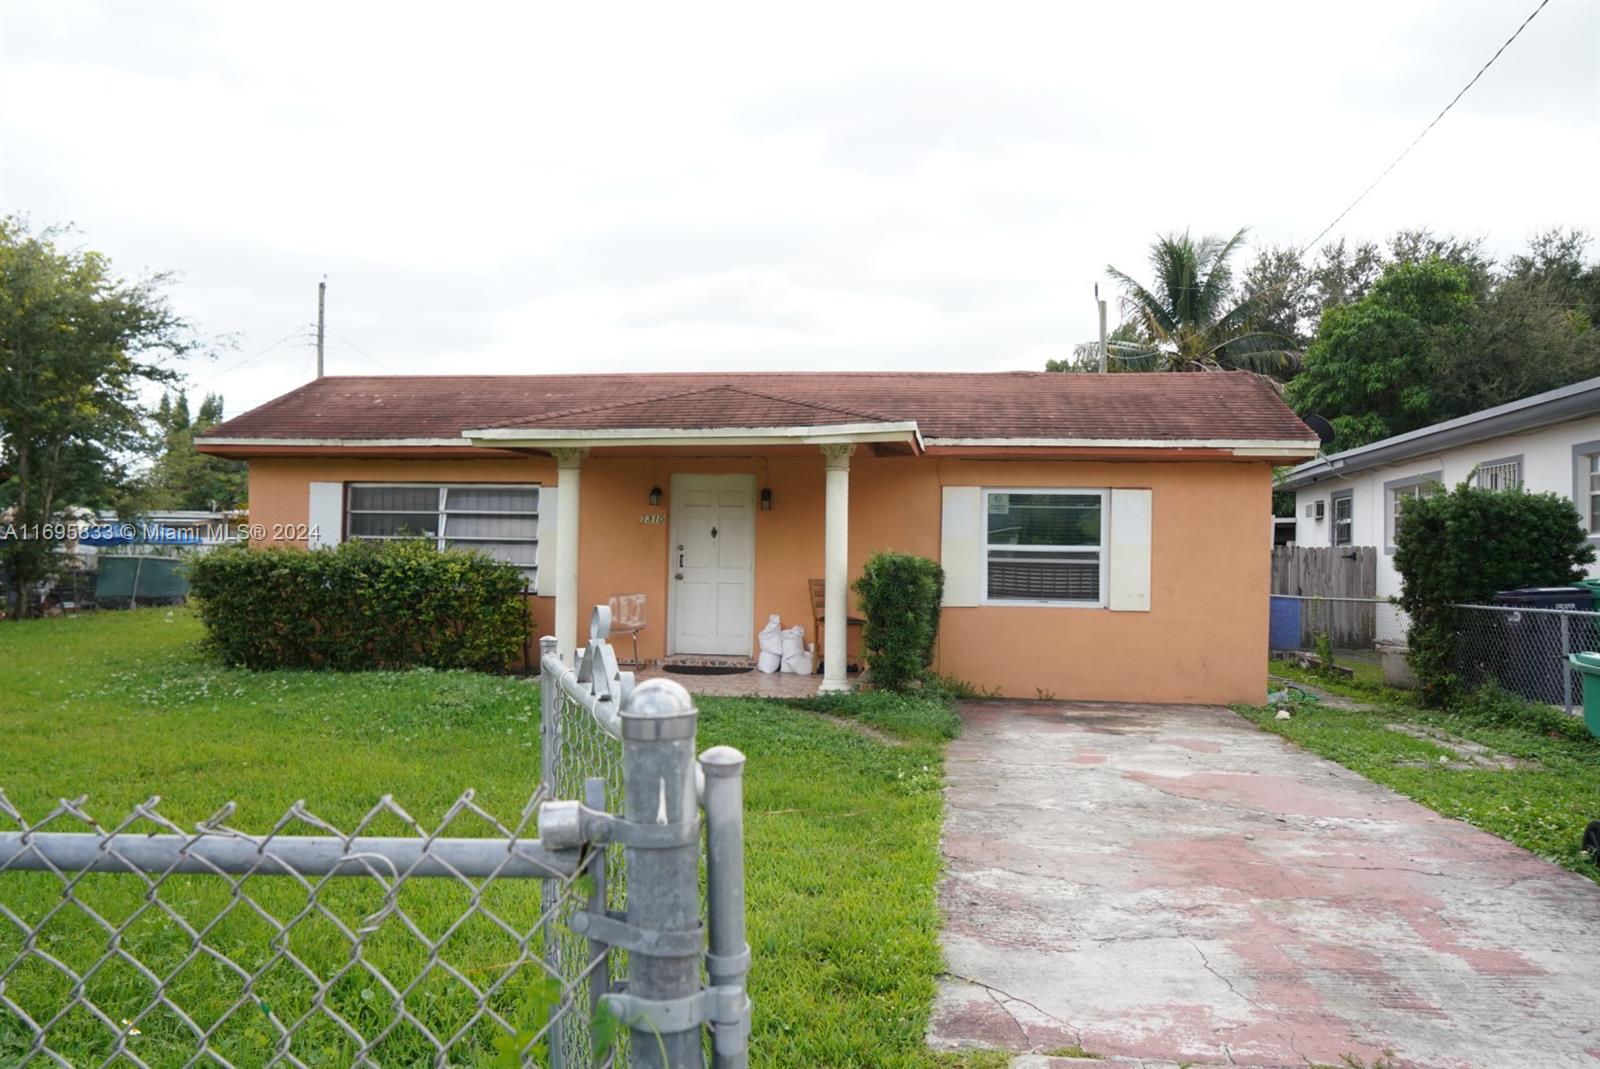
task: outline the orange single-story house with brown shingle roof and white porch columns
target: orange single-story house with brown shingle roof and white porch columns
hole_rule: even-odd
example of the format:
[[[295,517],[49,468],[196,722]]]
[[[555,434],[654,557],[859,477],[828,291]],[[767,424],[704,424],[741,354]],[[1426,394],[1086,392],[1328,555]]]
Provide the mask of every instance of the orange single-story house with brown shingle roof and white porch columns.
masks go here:
[[[1266,687],[1261,517],[1317,435],[1246,373],[680,373],[322,378],[197,445],[250,462],[256,541],[482,549],[568,655],[643,594],[643,659],[750,656],[821,578],[842,688],[848,583],[896,549],[944,567],[938,671],[1186,703]]]

